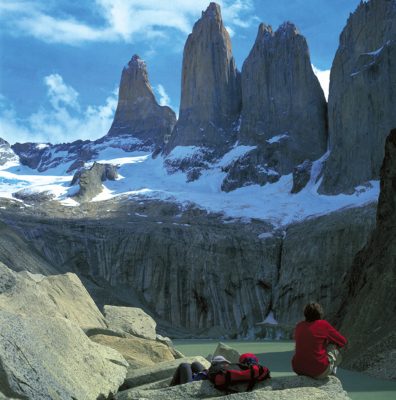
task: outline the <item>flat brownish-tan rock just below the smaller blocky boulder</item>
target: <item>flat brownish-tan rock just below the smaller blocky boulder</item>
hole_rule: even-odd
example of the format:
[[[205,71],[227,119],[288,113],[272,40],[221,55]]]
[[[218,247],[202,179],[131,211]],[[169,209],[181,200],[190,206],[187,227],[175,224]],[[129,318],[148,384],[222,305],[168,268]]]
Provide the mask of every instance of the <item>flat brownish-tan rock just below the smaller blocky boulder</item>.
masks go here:
[[[134,368],[147,367],[175,359],[167,345],[154,340],[107,335],[94,335],[90,339],[95,343],[117,350],[128,361],[129,366]]]

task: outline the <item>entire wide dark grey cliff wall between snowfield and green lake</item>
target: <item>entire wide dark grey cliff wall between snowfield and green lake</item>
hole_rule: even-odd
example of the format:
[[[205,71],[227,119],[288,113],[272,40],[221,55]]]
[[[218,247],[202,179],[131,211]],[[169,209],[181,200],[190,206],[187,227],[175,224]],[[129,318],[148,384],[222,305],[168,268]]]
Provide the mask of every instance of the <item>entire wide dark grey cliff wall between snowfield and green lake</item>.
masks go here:
[[[283,238],[264,222],[226,224],[156,201],[85,203],[63,211],[61,223],[50,210],[0,213],[47,264],[78,273],[98,304],[141,307],[176,337],[248,335],[270,311],[293,325],[311,299],[334,314],[375,213],[333,213],[290,226]]]

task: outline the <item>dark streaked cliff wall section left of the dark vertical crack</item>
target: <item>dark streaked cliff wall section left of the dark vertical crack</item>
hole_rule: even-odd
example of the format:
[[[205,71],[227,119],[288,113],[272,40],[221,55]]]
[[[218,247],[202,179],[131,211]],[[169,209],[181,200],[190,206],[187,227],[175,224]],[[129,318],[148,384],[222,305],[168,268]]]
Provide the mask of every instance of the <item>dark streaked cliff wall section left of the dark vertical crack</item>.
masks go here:
[[[195,334],[217,329],[221,336],[247,331],[268,314],[277,276],[276,238],[263,241],[258,232],[238,232],[235,226],[137,219],[64,221],[60,229],[35,222],[24,229],[52,263],[136,290],[151,313],[172,326]]]

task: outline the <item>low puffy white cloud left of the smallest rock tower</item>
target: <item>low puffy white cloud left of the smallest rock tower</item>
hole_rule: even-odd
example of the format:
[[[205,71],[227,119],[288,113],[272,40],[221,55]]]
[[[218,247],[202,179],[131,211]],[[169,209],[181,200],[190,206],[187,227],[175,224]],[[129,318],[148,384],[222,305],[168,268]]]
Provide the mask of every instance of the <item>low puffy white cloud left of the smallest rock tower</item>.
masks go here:
[[[113,122],[117,107],[115,90],[105,104],[88,106],[81,110],[78,93],[65,84],[58,74],[44,78],[48,86],[50,107],[40,108],[28,118],[18,118],[15,110],[7,106],[4,97],[0,108],[0,137],[15,142],[68,142],[77,139],[97,139],[104,136]]]

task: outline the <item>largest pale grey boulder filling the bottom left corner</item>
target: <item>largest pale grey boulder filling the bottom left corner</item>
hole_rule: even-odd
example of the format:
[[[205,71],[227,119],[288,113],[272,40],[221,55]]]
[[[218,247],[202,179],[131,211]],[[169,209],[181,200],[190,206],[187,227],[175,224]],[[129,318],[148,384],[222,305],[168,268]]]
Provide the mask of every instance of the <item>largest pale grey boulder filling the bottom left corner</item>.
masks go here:
[[[8,397],[94,400],[124,380],[122,356],[67,319],[0,311],[0,326],[0,391]]]

